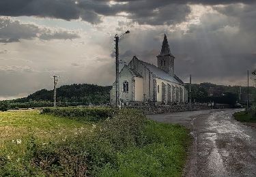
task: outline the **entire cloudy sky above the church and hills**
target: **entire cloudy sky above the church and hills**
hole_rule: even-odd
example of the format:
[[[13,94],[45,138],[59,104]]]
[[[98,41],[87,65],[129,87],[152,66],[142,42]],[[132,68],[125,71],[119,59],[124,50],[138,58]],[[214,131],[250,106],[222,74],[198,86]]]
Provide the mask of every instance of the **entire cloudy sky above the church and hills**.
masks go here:
[[[255,19],[255,0],[1,0],[0,100],[52,89],[54,75],[59,86],[113,84],[114,36],[127,30],[123,63],[156,65],[166,33],[184,82],[246,85]]]

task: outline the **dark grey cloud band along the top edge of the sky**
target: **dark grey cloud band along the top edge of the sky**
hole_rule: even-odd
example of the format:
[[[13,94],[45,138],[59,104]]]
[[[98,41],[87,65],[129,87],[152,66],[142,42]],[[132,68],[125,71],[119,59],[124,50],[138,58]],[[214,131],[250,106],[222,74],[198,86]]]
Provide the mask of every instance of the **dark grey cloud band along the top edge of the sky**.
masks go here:
[[[1,0],[1,16],[39,16],[72,20],[82,18],[93,24],[101,22],[101,16],[128,13],[128,18],[139,24],[176,24],[190,13],[187,4],[218,5],[252,3],[253,0],[127,0],[110,3],[106,0]]]

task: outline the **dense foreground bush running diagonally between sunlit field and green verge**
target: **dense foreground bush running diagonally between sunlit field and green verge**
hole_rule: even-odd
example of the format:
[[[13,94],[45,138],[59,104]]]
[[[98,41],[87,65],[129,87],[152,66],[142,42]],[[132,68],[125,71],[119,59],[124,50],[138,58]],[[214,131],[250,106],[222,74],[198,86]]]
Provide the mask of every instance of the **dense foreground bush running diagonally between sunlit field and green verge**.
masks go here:
[[[106,165],[117,168],[117,154],[142,146],[146,119],[136,110],[122,110],[95,127],[91,135],[79,135],[58,144],[31,140],[27,157],[46,176],[97,176]]]

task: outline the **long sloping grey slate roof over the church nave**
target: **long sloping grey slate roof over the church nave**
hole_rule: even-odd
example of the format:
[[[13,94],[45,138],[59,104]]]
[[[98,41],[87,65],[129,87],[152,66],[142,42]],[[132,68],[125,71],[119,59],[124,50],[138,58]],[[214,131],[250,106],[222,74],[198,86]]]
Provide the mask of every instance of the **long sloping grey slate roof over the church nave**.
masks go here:
[[[138,59],[139,60],[139,59]],[[156,67],[155,65],[152,65],[150,63],[146,63],[144,61],[139,60],[143,65],[145,65],[145,67],[147,67],[147,69],[149,69],[156,78],[160,78],[162,80],[167,80],[170,82],[174,82],[177,84],[183,84],[182,80],[180,80],[180,78],[176,79],[175,76],[170,76],[169,74],[167,74],[167,72],[163,71],[162,69]],[[177,76],[176,76],[177,77]]]

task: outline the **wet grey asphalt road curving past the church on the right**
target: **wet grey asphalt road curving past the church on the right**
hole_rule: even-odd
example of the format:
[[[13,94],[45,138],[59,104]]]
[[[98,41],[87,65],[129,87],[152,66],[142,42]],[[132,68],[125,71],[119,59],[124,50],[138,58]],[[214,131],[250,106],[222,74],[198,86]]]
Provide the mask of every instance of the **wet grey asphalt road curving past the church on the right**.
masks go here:
[[[234,120],[238,110],[149,115],[191,130],[193,145],[184,176],[256,176],[256,129]]]

